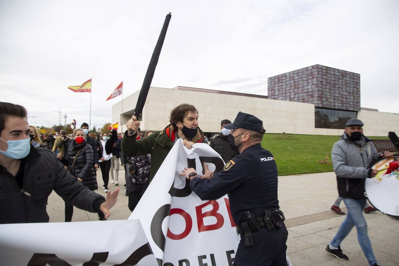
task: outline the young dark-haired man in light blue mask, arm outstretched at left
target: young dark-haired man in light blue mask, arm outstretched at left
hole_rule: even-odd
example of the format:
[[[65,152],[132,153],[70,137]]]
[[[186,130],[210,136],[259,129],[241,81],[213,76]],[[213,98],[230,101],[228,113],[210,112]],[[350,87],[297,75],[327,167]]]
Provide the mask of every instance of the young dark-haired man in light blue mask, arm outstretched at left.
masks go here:
[[[84,187],[55,155],[30,145],[23,106],[0,102],[0,223],[45,223],[47,198],[54,190],[62,199],[105,218],[117,202],[119,189],[107,199]]]

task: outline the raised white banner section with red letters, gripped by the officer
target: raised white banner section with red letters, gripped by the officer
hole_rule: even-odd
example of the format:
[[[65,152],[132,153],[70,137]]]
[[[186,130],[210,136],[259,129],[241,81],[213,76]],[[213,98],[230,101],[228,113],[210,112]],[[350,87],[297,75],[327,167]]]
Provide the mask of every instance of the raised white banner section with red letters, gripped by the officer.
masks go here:
[[[227,195],[201,201],[186,187],[186,178],[179,176],[184,167],[194,167],[201,176],[202,162],[211,171],[224,166],[207,144],[188,149],[178,140],[129,217],[141,221],[159,265],[233,264],[239,236]]]

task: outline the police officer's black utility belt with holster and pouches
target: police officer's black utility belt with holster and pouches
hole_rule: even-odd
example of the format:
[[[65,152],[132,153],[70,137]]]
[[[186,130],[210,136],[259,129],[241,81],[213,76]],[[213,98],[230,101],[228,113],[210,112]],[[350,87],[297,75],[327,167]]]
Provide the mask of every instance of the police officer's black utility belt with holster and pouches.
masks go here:
[[[261,227],[267,230],[278,230],[285,221],[284,213],[280,210],[265,210],[265,214],[256,217],[250,211],[244,213],[245,221],[237,224],[237,234],[244,234],[245,246],[253,246],[252,232],[257,232]]]

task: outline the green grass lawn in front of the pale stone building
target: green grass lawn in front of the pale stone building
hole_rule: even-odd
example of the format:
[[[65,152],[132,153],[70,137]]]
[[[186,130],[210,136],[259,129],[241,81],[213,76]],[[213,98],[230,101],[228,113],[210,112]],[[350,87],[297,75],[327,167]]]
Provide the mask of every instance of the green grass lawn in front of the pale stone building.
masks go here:
[[[322,173],[333,171],[331,149],[339,139],[340,136],[265,134],[262,146],[275,157],[279,175]]]

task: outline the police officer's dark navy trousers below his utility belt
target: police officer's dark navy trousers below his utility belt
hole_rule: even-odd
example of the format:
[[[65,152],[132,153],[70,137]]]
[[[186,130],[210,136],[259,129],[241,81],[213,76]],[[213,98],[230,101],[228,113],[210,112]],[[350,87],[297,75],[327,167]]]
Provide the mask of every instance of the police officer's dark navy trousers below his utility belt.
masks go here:
[[[261,227],[252,233],[253,246],[245,246],[244,235],[235,254],[235,266],[286,266],[286,241],[288,231],[283,223],[278,230],[268,231]]]

